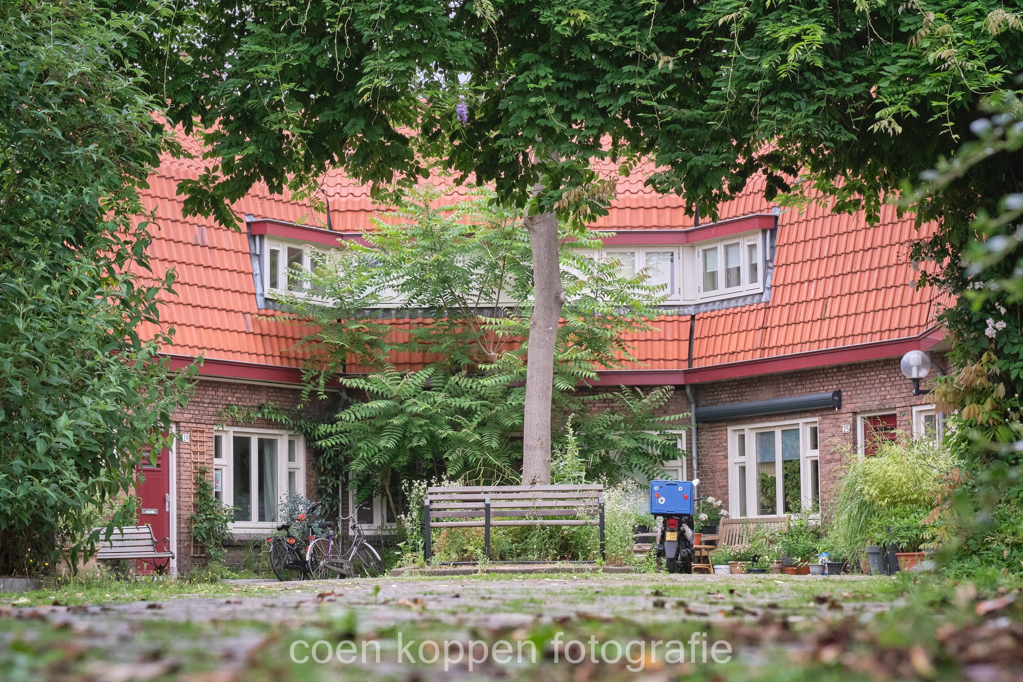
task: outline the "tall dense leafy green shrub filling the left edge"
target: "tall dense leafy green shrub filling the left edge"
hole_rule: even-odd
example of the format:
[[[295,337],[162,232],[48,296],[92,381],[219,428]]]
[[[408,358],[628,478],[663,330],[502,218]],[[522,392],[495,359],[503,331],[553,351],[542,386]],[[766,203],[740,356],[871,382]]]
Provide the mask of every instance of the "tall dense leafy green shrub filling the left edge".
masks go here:
[[[36,565],[91,550],[90,509],[130,492],[185,389],[164,336],[139,335],[171,277],[129,272],[166,143],[140,74],[115,63],[143,26],[85,1],[0,5],[0,575],[30,549]]]

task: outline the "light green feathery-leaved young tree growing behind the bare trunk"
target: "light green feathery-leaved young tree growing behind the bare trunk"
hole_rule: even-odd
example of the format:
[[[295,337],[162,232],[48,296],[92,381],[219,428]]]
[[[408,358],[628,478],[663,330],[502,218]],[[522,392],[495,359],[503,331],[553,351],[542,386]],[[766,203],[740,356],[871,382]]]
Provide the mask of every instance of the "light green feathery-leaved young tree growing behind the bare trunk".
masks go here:
[[[344,475],[354,478],[361,497],[409,479],[519,478],[522,342],[532,312],[529,239],[522,220],[495,208],[491,196],[410,192],[400,210],[375,221],[366,245],[320,258],[309,275],[316,298],[285,300],[297,320],[315,323],[305,344],[323,374],[341,373],[345,388],[367,397],[328,423],[307,427],[329,482],[324,489]],[[562,247],[568,297],[555,347],[553,410],[555,418],[578,415],[576,438],[588,475],[618,480],[652,473],[661,460],[678,456],[667,430],[679,415],[655,416],[671,389],[623,390],[614,396],[619,409],[603,411],[590,405],[608,395],[576,395],[598,369],[632,359],[625,337],[653,329],[649,320],[664,298],[646,282],[646,272],[620,277],[617,261],[578,248],[599,243],[566,239]],[[389,307],[380,308],[385,301]],[[410,311],[413,319],[405,319]],[[416,371],[397,366],[409,359],[427,364]],[[321,385],[321,375],[307,374],[310,385]]]

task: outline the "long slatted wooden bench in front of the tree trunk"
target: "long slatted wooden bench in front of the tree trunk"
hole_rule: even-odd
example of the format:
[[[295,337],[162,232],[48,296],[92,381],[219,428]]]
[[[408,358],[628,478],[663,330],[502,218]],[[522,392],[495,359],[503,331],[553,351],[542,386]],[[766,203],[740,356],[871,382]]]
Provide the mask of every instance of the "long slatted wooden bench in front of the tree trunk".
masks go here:
[[[587,515],[591,517],[580,518]],[[565,518],[566,516],[572,518]],[[597,526],[601,558],[607,559],[603,485],[461,486],[427,489],[422,536],[424,555],[428,561],[432,556],[432,529],[483,528],[483,552],[489,559],[490,529],[498,526]]]

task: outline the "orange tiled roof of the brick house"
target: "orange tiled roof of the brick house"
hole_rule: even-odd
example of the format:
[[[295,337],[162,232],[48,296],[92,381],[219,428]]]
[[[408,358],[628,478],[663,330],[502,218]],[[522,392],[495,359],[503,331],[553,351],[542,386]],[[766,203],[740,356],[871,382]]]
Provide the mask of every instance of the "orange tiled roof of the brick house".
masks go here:
[[[195,146],[194,141],[186,140]],[[197,152],[197,147],[192,149]],[[204,164],[196,160],[165,157],[150,178],[143,202],[155,211],[158,228],[150,249],[154,275],[177,270],[176,295],[165,297],[165,327],[173,327],[172,355],[208,360],[299,367],[302,354],[294,350],[303,335],[300,325],[265,319],[259,310],[253,281],[249,241],[243,231],[232,231],[212,220],[181,212],[177,183],[195,178]],[[369,229],[369,217],[379,209],[368,188],[342,175],[324,183],[335,230]],[[720,207],[720,219],[768,213],[773,204],[763,197],[761,178],[753,178],[744,192]],[[308,202],[287,194],[271,195],[258,184],[236,201],[239,216],[251,215],[287,222],[325,225]],[[619,192],[608,216],[594,227],[608,230],[668,229],[693,226],[682,200],[658,195],[636,175],[619,182]],[[938,293],[915,287],[908,263],[910,242],[930,232],[914,229],[911,217],[899,218],[886,207],[881,221],[869,226],[862,215],[833,215],[812,206],[801,214],[783,211],[779,220],[775,268],[767,303],[700,313],[695,325],[693,367],[771,358],[808,351],[837,349],[872,342],[918,336],[935,325]],[[243,227],[242,227],[243,230]],[[690,366],[688,315],[659,318],[657,332],[632,339],[636,369],[674,370]],[[150,330],[151,331],[151,330]],[[396,358],[404,366],[415,358]]]

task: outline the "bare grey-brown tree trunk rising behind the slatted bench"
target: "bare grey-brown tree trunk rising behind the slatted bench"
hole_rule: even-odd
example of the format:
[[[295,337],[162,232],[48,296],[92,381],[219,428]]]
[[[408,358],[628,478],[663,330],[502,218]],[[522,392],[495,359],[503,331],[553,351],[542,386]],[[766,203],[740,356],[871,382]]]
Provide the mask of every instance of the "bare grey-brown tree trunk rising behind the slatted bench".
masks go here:
[[[522,481],[550,483],[550,402],[554,382],[554,340],[562,317],[558,216],[541,213],[525,220],[533,252],[533,317],[529,322]]]

